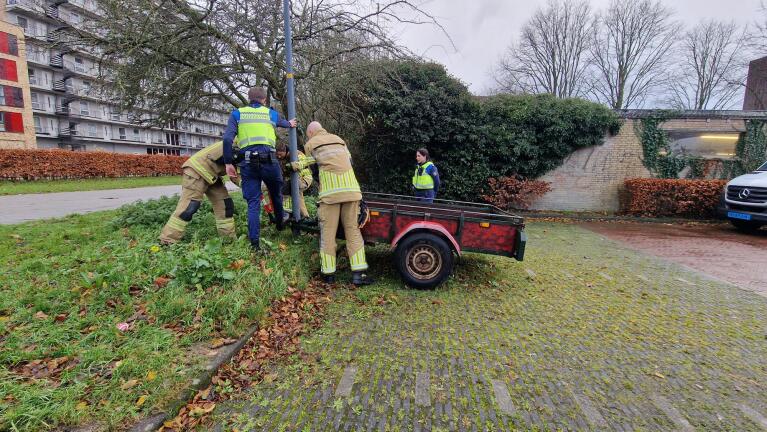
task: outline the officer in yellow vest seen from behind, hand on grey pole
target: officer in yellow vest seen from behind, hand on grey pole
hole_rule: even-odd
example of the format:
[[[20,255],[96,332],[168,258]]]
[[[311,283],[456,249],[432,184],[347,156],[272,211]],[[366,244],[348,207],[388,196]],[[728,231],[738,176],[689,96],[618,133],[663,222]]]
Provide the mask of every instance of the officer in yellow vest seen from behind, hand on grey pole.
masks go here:
[[[248,203],[248,239],[254,250],[260,250],[261,240],[261,182],[266,184],[274,203],[277,229],[283,228],[282,170],[275,155],[275,127],[294,128],[296,120],[282,119],[277,111],[267,107],[266,90],[253,87],[248,91],[250,105],[232,111],[224,132],[224,161],[230,177],[237,172],[232,163],[232,142],[239,142],[242,195]]]

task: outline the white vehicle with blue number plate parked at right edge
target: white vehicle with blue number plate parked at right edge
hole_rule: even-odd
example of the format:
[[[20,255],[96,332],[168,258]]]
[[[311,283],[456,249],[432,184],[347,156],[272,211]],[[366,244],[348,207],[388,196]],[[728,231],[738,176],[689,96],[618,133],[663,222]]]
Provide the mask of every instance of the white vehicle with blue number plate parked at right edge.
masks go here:
[[[767,225],[767,162],[730,180],[722,198],[719,214],[735,228],[753,232]]]

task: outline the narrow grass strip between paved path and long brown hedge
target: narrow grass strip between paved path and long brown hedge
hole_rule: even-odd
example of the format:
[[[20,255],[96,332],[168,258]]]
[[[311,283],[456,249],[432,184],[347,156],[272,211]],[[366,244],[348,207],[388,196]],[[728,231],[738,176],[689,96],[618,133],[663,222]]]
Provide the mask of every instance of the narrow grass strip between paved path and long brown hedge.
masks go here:
[[[0,195],[128,189],[181,184],[179,176],[94,178],[79,180],[0,181]]]

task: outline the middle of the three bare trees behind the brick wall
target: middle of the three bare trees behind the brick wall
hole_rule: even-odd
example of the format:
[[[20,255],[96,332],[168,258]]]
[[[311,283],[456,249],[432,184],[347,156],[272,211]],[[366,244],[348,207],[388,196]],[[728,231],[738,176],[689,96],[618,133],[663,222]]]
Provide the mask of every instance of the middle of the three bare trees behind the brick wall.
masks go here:
[[[612,0],[591,45],[596,98],[614,109],[641,106],[667,73],[678,28],[659,0]]]

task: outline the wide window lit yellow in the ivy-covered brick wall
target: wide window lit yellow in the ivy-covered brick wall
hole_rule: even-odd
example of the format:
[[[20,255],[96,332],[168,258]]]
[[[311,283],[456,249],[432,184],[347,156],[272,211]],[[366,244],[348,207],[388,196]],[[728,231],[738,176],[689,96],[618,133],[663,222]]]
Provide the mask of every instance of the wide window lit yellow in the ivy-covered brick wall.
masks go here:
[[[739,133],[670,131],[671,152],[703,159],[732,159]]]

